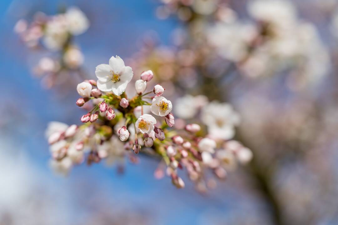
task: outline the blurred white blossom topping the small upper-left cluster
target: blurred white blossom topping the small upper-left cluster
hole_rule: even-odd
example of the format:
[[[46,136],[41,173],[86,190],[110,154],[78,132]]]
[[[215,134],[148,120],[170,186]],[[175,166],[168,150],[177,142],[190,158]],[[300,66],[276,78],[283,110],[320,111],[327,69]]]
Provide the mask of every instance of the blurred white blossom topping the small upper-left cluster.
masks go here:
[[[84,13],[77,7],[67,9],[65,13],[67,26],[70,33],[79,35],[89,27],[89,20]]]

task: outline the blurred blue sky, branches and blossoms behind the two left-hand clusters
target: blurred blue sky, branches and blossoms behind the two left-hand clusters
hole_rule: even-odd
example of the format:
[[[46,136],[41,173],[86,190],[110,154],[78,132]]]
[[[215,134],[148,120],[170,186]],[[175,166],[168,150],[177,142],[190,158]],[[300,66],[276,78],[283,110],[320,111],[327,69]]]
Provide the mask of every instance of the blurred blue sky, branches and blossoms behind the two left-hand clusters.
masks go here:
[[[0,224],[338,224],[338,2],[253,2],[1,1]],[[72,40],[81,70],[42,77],[50,52],[14,27],[69,6],[90,21]],[[197,120],[182,103],[190,95],[231,103],[252,162],[206,192],[155,179],[158,162],[142,156],[54,174],[47,123],[79,122],[76,84],[112,55],[136,75],[152,69],[175,118]]]

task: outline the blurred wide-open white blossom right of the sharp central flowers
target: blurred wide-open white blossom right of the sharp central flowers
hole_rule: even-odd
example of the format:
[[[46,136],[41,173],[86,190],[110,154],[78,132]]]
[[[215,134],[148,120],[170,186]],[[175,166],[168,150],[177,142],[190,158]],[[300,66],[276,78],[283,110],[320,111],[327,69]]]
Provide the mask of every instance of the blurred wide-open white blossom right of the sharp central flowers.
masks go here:
[[[202,121],[208,126],[208,133],[215,139],[231,139],[235,135],[235,125],[239,115],[231,105],[213,101],[202,109]]]

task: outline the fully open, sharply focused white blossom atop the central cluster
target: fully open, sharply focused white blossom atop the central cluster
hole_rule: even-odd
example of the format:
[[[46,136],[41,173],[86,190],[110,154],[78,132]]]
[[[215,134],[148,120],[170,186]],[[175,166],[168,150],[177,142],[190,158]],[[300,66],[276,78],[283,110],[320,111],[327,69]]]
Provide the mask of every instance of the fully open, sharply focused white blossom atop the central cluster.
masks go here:
[[[108,64],[96,66],[95,75],[98,79],[97,88],[101,91],[113,91],[115,95],[121,95],[134,73],[130,66],[125,66],[119,56],[112,56]]]

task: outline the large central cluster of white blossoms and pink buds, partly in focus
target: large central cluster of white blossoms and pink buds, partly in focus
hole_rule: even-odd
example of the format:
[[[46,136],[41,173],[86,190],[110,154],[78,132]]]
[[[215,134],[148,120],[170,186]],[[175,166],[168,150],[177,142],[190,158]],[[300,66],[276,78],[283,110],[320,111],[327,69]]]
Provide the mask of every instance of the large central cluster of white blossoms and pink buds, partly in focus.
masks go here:
[[[199,96],[206,101],[202,120],[208,124],[208,132],[196,123],[174,129],[173,106],[163,96],[165,89],[158,84],[146,92],[152,71],[141,74],[141,79],[135,82],[137,94],[131,98],[125,90],[134,73],[119,56],[111,57],[109,64],[98,65],[95,74],[97,81],[85,80],[77,85],[81,97],[76,105],[86,109],[92,105],[80,118],[83,125],[51,122],[48,126],[51,165],[56,171],[67,174],[73,165],[84,161],[113,162],[124,156],[135,162],[137,158],[131,152],[142,152],[161,159],[156,178],[163,177],[165,163],[173,184],[182,188],[185,184],[178,170],[186,168],[189,178],[203,190],[208,168],[224,178],[225,169],[251,160],[248,148],[229,140],[234,136],[233,125],[239,122],[230,105],[208,103]],[[146,106],[150,106],[152,114],[143,113]]]

